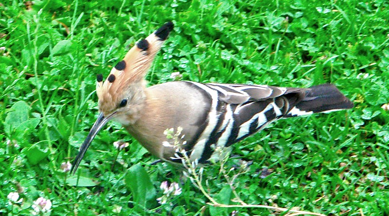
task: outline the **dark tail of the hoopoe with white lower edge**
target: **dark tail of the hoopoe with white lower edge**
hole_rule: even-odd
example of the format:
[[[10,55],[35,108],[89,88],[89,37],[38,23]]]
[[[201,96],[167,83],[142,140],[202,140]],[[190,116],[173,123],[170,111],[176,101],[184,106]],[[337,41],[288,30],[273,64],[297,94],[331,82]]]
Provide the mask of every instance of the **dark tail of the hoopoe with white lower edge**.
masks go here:
[[[307,115],[317,112],[332,112],[353,108],[354,104],[336,86],[323,84],[306,89],[301,101],[297,102],[285,117]]]

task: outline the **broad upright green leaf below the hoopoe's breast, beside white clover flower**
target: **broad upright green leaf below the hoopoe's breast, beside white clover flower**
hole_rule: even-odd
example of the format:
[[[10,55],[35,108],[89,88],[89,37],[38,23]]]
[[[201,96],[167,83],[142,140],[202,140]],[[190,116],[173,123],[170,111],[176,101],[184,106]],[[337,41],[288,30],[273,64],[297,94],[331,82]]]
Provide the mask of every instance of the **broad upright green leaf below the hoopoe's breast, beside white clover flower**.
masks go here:
[[[154,185],[151,183],[149,174],[141,164],[135,164],[127,170],[124,182],[131,190],[134,201],[139,205],[146,207],[146,202],[155,198],[156,190]]]

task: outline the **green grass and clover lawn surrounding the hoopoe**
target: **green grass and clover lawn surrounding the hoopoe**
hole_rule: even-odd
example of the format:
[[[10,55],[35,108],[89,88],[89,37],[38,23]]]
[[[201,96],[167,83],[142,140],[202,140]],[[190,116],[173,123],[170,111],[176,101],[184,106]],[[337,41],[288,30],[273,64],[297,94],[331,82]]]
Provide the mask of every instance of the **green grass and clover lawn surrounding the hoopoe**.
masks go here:
[[[171,81],[172,72],[199,82],[331,82],[354,101],[351,110],[281,120],[235,144],[233,154],[252,162],[234,185],[243,201],[388,215],[389,113],[381,108],[389,101],[388,14],[386,0],[3,1],[0,214],[30,215],[44,197],[52,215],[117,215],[118,207],[121,215],[273,215],[207,205],[176,167],[150,165],[156,158],[114,122],[82,162],[86,186],[64,185],[72,179],[60,164],[72,161],[98,113],[96,74],[106,76],[139,39],[173,20],[146,77],[150,85]],[[120,139],[130,146],[114,161],[112,143]],[[264,168],[270,175],[261,178]],[[180,182],[183,193],[159,205],[164,180]],[[219,202],[236,204],[219,165],[205,167],[203,186]],[[22,204],[8,203],[15,191]]]

